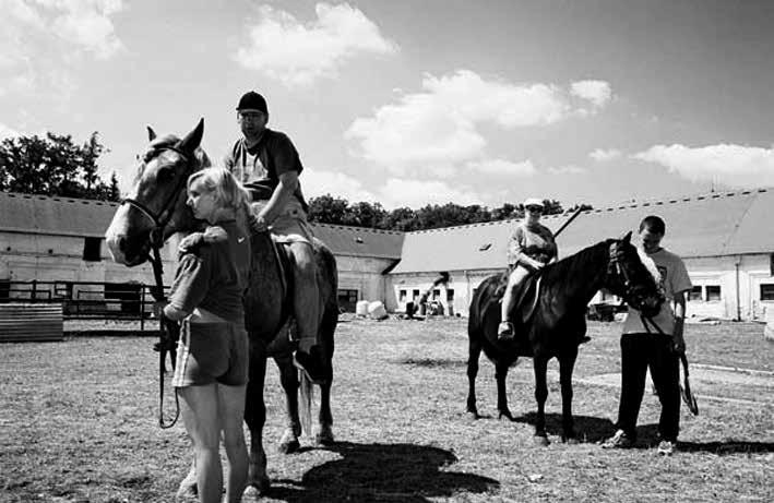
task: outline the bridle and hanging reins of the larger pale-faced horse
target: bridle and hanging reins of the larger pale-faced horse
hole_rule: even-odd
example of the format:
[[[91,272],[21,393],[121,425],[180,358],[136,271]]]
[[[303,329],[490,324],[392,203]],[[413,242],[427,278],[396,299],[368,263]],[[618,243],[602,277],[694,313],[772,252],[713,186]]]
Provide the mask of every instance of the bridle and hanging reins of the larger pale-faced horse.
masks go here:
[[[193,158],[190,154],[184,153],[177,146],[163,146],[155,148],[154,152],[172,151],[180,155],[186,160],[186,169],[175,184],[175,190],[169,193],[167,199],[162,205],[162,211],[155,214],[151,208],[148,208],[144,203],[131,197],[126,197],[121,201],[121,205],[128,204],[131,207],[138,209],[141,214],[147,217],[153,223],[153,228],[147,237],[148,245],[151,247],[152,254],[147,255],[147,261],[151,262],[153,266],[153,277],[156,285],[151,288],[151,295],[156,302],[166,302],[167,298],[164,295],[164,264],[162,263],[162,248],[164,247],[164,229],[169,224],[172,218],[172,211],[175,205],[180,199],[180,191],[182,190],[188,177],[190,175],[191,168],[193,167]],[[158,426],[162,429],[168,429],[175,426],[178,418],[180,417],[180,403],[178,400],[177,391],[175,392],[175,417],[171,422],[165,422],[164,420],[164,371],[165,361],[167,357],[167,350],[170,350],[175,355],[175,343],[177,342],[177,334],[175,331],[177,328],[168,326],[169,323],[174,323],[167,320],[162,313],[158,318],[159,320],[159,343],[158,343]],[[167,335],[167,332],[169,333]],[[172,357],[172,369],[175,369],[175,358]]]

